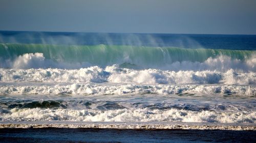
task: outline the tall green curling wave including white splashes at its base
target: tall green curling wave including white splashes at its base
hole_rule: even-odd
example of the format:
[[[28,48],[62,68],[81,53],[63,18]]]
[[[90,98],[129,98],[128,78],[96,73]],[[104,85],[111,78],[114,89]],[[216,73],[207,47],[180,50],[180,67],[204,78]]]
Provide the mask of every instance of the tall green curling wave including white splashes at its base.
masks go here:
[[[256,71],[255,51],[144,46],[0,44],[2,68],[77,69],[114,64],[132,69]]]

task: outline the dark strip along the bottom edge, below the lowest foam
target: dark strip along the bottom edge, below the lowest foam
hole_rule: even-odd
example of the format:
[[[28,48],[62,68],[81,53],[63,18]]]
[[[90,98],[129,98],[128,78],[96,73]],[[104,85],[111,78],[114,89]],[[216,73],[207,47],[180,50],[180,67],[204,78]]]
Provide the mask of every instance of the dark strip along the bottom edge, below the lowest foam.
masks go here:
[[[256,131],[0,129],[0,142],[255,142]]]

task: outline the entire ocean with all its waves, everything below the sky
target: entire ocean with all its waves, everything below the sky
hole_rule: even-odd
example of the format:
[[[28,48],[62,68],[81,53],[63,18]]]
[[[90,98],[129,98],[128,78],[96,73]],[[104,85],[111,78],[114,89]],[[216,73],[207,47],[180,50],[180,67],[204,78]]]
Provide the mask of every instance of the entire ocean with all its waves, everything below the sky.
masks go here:
[[[209,140],[180,140],[180,132],[202,131],[231,134],[219,141],[243,133],[255,140],[255,99],[256,35],[0,32],[6,142],[47,129],[56,136],[145,135],[115,142],[168,142],[168,134],[177,142]],[[154,139],[158,133],[164,140]],[[98,139],[73,141],[104,141]]]

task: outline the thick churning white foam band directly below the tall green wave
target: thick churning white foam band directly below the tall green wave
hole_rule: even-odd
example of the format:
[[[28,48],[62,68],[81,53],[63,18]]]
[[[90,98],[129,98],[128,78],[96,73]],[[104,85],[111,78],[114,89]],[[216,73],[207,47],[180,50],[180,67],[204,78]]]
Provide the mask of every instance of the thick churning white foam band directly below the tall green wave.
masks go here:
[[[134,84],[256,84],[256,72],[168,71],[125,69],[118,66],[93,66],[78,70],[0,69],[0,82],[113,82]]]

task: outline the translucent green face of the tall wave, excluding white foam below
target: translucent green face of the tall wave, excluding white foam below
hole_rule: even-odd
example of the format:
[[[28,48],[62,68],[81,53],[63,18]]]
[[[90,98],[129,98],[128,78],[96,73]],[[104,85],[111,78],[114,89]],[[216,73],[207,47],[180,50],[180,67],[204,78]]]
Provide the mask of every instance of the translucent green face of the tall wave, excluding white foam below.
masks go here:
[[[227,55],[232,59],[245,60],[255,51],[224,49],[185,49],[178,47],[136,47],[113,45],[61,46],[45,44],[0,44],[3,59],[15,59],[25,53],[43,53],[55,62],[88,62],[93,65],[113,64],[165,65],[179,61],[204,62],[209,57]]]

